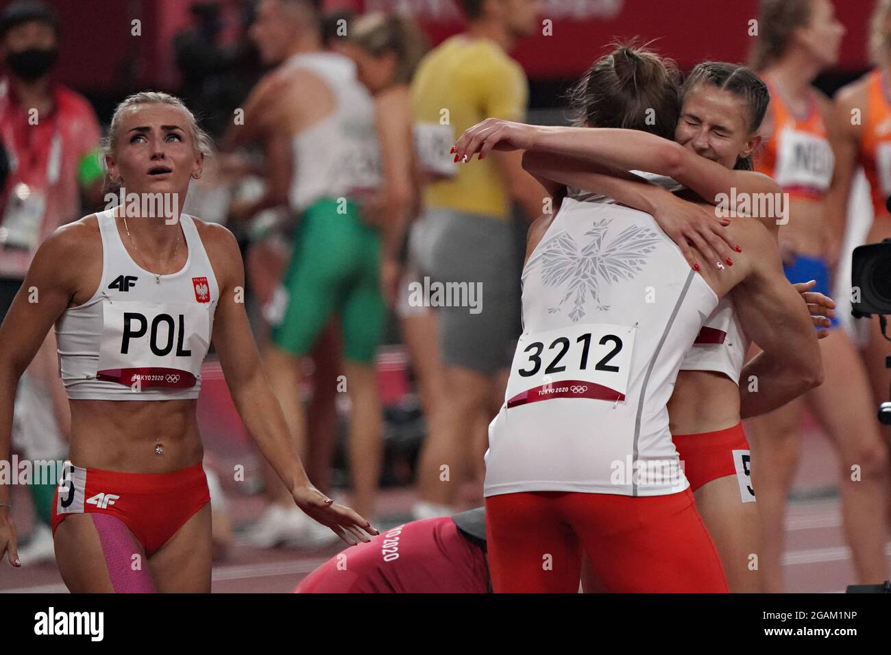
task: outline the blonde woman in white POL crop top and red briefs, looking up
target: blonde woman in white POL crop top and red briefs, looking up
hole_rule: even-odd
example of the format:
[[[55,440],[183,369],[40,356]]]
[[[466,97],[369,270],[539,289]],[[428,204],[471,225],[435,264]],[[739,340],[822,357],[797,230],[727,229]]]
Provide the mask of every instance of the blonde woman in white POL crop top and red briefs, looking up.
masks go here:
[[[105,162],[127,201],[53,233],[0,327],[5,458],[16,383],[55,324],[71,437],[53,532],[62,579],[75,593],[210,591],[195,408],[211,342],[241,420],[300,509],[350,544],[368,540],[363,530],[376,534],[315,489],[294,453],[250,334],[232,234],[179,213],[209,151],[175,97],[147,92],[122,102]],[[0,556],[13,561],[5,485],[0,503]]]

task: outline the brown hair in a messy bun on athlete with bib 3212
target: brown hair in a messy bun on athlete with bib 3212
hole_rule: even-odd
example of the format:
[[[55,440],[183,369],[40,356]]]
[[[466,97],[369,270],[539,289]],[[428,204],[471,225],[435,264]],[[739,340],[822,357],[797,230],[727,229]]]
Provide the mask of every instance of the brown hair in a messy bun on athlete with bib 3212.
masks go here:
[[[614,45],[569,91],[573,125],[622,127],[674,139],[681,113],[674,61],[636,45]]]

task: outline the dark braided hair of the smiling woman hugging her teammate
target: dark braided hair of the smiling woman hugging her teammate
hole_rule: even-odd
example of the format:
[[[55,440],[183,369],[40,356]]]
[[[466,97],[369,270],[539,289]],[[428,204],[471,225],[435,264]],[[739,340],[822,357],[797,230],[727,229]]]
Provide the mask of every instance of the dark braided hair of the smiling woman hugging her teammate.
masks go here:
[[[755,134],[761,127],[771,94],[764,80],[751,69],[725,61],[703,61],[691,70],[683,83],[683,96],[697,86],[711,85],[740,97],[746,103],[747,127]],[[752,156],[740,157],[734,168],[752,170]]]

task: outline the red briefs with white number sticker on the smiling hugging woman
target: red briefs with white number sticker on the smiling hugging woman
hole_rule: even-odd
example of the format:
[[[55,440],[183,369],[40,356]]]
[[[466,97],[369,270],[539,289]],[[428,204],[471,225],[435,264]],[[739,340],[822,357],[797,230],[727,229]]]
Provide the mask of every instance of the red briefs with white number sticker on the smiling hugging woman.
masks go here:
[[[755,500],[749,475],[748,440],[742,431],[742,422],[726,430],[699,432],[699,434],[672,435],[674,447],[681,456],[683,472],[690,480],[690,488],[696,491],[713,479],[736,475],[740,478],[740,494],[743,502]],[[743,491],[745,490],[745,494]],[[750,500],[747,500],[749,498]]]

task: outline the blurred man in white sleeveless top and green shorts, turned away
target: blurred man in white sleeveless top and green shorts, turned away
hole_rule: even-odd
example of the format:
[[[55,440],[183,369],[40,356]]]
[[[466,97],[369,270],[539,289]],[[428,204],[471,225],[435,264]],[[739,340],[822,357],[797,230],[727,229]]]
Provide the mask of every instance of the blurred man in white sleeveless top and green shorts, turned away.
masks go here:
[[[360,222],[356,195],[377,187],[377,141],[372,100],[356,80],[355,66],[323,50],[319,4],[262,0],[257,5],[251,37],[264,63],[278,66],[249,95],[244,120],[230,128],[226,147],[263,143],[265,188],[256,199],[233,204],[231,215],[256,217],[258,223],[268,209],[288,209],[284,227],[294,233],[290,265],[266,306],[273,331],[264,353],[295,448],[305,458],[315,447],[315,434],[307,430],[313,416],[307,416],[300,397],[301,358],[328,338],[325,327],[335,315],[342,323],[346,380],[331,384],[336,364],[328,357],[316,366],[316,389],[327,396],[331,384],[331,391],[349,394],[353,504],[364,508],[357,511],[372,513],[381,451],[372,362],[384,315],[377,285],[378,236]],[[323,455],[326,450],[323,446]],[[290,493],[272,479],[267,478],[267,486],[271,502],[251,541],[315,541],[312,521],[293,512]]]

